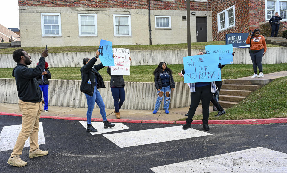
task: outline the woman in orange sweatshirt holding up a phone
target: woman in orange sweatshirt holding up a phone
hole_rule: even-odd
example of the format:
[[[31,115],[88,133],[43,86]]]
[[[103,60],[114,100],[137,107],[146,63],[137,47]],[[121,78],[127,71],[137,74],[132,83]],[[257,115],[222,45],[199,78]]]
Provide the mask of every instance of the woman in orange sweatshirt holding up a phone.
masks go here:
[[[262,58],[266,53],[266,42],[264,36],[260,35],[260,30],[257,28],[253,33],[249,32],[249,35],[246,39],[246,44],[250,44],[250,57],[253,64],[254,74],[251,78],[254,77],[264,77],[263,75],[263,66]],[[257,67],[260,74],[257,75]]]

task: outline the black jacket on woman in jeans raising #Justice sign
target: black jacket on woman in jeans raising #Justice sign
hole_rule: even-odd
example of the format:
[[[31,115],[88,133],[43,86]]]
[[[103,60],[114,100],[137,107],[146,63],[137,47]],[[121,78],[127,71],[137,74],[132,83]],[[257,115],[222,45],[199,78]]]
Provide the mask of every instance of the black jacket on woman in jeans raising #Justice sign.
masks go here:
[[[102,75],[98,72],[100,69],[104,68],[102,63],[94,65],[97,59],[92,58],[86,65],[81,68],[82,83],[80,90],[83,93],[93,96],[95,87],[95,78],[97,77],[98,88],[106,88]],[[88,83],[88,80],[91,83]]]

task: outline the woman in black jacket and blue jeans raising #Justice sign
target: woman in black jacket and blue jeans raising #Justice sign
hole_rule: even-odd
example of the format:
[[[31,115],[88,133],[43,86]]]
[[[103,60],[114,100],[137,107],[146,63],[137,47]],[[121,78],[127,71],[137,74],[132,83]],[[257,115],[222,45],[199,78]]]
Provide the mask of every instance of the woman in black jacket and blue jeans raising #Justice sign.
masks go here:
[[[103,64],[100,63],[98,65],[94,65],[99,58],[100,52],[96,52],[96,56],[92,59],[84,58],[83,59],[83,67],[81,68],[82,75],[82,83],[80,90],[85,93],[88,110],[87,110],[87,131],[88,132],[97,132],[91,124],[92,113],[94,110],[94,105],[97,105],[100,108],[100,113],[103,117],[104,128],[114,127],[115,124],[111,124],[108,122],[106,117],[105,104],[103,102],[103,98],[98,91],[98,88],[106,88],[104,84],[104,80],[100,73],[98,72],[100,69],[104,68]]]

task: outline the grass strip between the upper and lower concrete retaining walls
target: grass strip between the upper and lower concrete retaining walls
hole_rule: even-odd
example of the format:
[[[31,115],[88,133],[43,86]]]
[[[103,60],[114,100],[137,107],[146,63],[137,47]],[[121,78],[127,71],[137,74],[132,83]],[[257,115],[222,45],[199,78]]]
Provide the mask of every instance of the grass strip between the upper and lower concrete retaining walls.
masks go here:
[[[124,76],[125,81],[130,82],[154,82],[153,71],[157,65],[141,65],[131,66],[130,76]],[[168,67],[173,71],[173,78],[175,82],[184,81],[183,78],[179,78],[177,74],[183,69],[182,64],[172,64]],[[0,68],[0,78],[13,78],[13,68]],[[62,67],[62,68],[50,68],[52,79],[64,79],[64,80],[81,80],[80,67]],[[263,64],[263,72],[273,73],[277,71],[286,71],[287,63],[285,64]],[[110,76],[107,74],[107,67],[101,69],[100,74],[103,75],[104,81],[109,81]],[[236,79],[240,77],[251,76],[253,74],[252,65],[247,64],[233,64],[226,65],[222,68],[222,79]]]

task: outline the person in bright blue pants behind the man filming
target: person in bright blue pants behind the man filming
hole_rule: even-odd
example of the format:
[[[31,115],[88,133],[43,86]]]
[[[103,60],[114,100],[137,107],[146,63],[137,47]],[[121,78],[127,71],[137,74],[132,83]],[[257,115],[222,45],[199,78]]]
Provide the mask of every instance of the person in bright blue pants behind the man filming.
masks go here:
[[[38,63],[39,64],[39,63]],[[39,84],[39,87],[41,88],[41,91],[43,93],[44,97],[44,110],[45,112],[48,112],[49,103],[48,103],[48,89],[49,89],[49,79],[51,79],[51,73],[48,68],[48,63],[46,62],[44,71],[42,72],[41,76],[36,77],[37,82]]]

